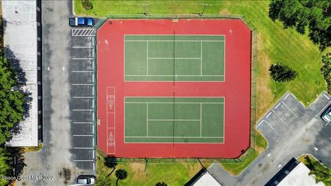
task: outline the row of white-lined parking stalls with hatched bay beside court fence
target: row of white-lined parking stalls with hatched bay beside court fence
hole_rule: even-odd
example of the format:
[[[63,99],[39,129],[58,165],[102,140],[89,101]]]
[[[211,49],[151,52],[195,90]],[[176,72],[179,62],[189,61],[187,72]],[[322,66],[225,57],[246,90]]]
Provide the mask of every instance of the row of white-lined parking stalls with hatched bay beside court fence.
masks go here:
[[[73,162],[80,169],[95,171],[94,128],[94,30],[71,30],[70,118]]]

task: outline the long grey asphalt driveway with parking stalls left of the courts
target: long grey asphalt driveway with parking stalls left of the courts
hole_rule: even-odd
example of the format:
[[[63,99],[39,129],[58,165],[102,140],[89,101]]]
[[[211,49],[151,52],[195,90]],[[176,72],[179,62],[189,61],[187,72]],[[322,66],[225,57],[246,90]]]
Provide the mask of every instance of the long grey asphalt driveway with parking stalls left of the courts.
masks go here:
[[[92,39],[72,37],[72,1],[43,1],[41,11],[43,148],[25,154],[23,176],[51,180],[21,180],[17,185],[71,185],[79,174],[94,174],[95,169],[94,85],[83,85],[93,84],[94,64],[74,59],[90,58]]]

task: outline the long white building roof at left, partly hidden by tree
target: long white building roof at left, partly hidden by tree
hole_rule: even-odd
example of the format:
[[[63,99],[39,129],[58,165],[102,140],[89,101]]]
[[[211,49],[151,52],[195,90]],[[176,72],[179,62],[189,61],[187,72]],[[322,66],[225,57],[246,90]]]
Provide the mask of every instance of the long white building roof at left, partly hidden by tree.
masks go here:
[[[19,123],[21,131],[12,136],[9,146],[38,145],[38,97],[37,97],[37,1],[2,1],[3,43],[10,61],[19,60],[26,73],[25,90],[31,93],[32,101],[28,117]]]

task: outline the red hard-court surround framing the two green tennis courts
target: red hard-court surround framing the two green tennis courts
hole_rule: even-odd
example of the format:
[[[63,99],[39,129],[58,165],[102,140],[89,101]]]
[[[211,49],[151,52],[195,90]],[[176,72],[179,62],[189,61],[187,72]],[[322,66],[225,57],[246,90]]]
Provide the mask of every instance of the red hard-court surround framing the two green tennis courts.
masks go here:
[[[98,146],[103,152],[131,158],[234,158],[249,147],[251,32],[241,20],[108,21],[97,31]],[[225,35],[225,82],[124,82],[124,34],[173,34],[174,30]],[[173,92],[175,96],[224,96],[225,143],[124,143],[124,96],[173,96]],[[114,103],[110,103],[112,96]]]

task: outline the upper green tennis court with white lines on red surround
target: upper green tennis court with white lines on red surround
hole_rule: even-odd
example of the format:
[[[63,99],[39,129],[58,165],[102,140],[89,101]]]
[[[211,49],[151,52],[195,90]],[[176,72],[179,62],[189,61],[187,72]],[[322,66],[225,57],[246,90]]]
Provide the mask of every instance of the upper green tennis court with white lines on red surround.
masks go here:
[[[223,35],[125,35],[125,81],[224,81]]]

